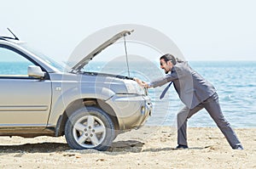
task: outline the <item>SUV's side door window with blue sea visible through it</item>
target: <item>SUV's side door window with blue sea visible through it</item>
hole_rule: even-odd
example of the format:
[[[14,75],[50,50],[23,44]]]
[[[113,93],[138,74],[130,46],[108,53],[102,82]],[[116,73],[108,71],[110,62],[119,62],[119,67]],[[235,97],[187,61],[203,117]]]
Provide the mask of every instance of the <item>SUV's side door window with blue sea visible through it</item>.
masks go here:
[[[0,47],[0,78],[9,76],[28,77],[28,65],[34,64],[9,48]]]

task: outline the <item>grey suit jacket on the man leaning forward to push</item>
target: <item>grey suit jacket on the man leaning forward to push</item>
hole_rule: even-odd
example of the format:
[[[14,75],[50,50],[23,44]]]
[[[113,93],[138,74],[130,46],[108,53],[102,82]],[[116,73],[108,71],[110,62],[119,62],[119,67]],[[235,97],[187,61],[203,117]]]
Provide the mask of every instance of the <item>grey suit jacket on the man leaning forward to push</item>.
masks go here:
[[[212,84],[193,70],[188,62],[177,63],[172,67],[171,74],[150,82],[150,85],[160,87],[167,82],[173,82],[179,98],[189,109],[195,108],[216,93]]]

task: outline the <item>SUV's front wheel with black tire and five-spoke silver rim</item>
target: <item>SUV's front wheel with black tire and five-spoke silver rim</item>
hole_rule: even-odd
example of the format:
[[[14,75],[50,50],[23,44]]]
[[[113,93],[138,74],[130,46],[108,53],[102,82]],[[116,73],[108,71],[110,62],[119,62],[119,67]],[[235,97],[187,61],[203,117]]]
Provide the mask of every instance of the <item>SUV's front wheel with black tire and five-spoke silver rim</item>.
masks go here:
[[[72,149],[107,150],[114,136],[113,121],[96,107],[76,110],[65,126],[65,138]]]

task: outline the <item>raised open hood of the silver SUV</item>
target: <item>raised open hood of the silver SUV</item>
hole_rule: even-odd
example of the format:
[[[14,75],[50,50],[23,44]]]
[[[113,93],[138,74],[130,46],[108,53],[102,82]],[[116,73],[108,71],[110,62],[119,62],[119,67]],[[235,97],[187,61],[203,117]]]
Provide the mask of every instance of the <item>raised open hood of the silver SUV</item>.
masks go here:
[[[132,30],[133,31],[133,30]],[[127,35],[130,35],[132,31],[121,31],[115,36],[108,39],[108,41],[103,42],[98,48],[94,49],[90,54],[87,54],[84,59],[81,59],[78,64],[74,65],[72,67],[71,72],[79,72],[81,69],[83,69],[84,65],[87,65],[91,59],[93,59],[97,54],[101,53],[102,50],[105,48],[108,48],[111,44],[114,42],[117,42],[121,37],[125,37]]]

